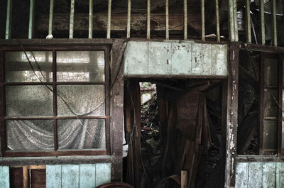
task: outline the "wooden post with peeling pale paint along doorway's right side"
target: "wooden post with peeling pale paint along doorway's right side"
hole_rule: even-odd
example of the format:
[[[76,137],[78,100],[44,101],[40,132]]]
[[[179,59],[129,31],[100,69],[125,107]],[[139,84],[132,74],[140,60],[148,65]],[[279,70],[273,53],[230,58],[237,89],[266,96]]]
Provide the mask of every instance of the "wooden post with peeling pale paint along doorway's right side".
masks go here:
[[[231,43],[226,107],[225,187],[234,187],[236,180],[236,137],[238,129],[239,44]]]

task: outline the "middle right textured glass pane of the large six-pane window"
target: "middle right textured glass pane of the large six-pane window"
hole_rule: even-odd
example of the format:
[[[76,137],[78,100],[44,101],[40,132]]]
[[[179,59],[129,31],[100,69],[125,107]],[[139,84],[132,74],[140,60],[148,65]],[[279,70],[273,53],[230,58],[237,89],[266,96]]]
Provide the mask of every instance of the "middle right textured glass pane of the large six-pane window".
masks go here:
[[[104,85],[60,85],[58,94],[58,116],[104,116]],[[73,114],[72,111],[75,113]],[[92,113],[89,113],[92,111]]]

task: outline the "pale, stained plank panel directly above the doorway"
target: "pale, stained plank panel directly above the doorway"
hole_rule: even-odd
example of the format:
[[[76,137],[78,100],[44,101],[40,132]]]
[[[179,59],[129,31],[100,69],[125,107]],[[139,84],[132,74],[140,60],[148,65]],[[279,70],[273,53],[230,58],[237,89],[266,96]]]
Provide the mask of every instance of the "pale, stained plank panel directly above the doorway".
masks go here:
[[[130,41],[124,74],[227,76],[227,62],[226,44]]]

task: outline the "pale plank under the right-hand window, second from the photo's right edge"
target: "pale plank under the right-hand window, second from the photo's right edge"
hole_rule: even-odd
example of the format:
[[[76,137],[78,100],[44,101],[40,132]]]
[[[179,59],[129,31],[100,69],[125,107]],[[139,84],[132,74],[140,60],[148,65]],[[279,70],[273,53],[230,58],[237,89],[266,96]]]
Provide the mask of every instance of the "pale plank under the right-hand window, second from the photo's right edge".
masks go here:
[[[276,163],[275,162],[263,162],[263,188],[273,188],[276,184]]]

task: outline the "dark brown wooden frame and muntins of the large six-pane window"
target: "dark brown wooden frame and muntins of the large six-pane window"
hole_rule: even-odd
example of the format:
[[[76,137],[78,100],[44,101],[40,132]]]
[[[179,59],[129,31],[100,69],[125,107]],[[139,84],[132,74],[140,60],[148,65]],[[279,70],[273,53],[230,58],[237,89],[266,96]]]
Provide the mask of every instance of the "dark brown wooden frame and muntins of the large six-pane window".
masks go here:
[[[110,155],[110,48],[108,45],[25,45],[26,51],[52,51],[53,52],[53,82],[45,84],[53,87],[57,91],[58,85],[96,85],[104,84],[104,116],[82,116],[80,119],[104,119],[105,120],[105,138],[106,148],[99,149],[78,149],[78,150],[58,150],[58,123],[59,119],[77,119],[76,116],[57,116],[57,95],[53,94],[53,116],[50,117],[25,117],[10,118],[5,117],[6,97],[5,87],[11,85],[45,85],[41,82],[5,82],[5,60],[6,51],[23,51],[22,46],[2,46],[0,49],[0,138],[1,138],[1,157],[42,157],[42,156],[69,156],[69,155]],[[57,51],[104,51],[104,82],[57,82]],[[6,121],[7,120],[33,120],[33,119],[50,119],[53,120],[54,131],[54,150],[7,150],[6,142]]]

